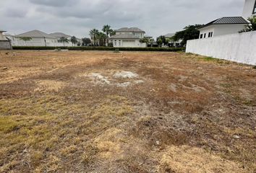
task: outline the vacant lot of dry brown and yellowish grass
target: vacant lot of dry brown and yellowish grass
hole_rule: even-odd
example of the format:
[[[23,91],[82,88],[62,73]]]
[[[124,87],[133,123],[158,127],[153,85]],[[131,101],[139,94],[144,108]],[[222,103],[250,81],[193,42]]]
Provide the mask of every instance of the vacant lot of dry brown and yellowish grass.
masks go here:
[[[252,66],[2,50],[0,79],[0,172],[256,172]]]

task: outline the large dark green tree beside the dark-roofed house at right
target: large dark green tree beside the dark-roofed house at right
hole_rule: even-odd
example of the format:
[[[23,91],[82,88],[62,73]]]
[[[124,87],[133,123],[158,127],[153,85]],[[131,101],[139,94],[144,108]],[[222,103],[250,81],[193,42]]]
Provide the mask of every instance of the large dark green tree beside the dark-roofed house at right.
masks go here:
[[[171,39],[174,41],[182,40],[182,45],[187,44],[187,40],[197,39],[200,35],[200,31],[198,30],[203,25],[188,25],[184,27],[184,30],[176,32]]]

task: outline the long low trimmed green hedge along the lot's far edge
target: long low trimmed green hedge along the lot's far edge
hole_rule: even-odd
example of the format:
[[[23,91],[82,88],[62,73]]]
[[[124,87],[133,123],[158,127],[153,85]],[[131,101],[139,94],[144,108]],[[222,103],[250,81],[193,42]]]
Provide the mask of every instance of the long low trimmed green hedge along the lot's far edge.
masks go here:
[[[113,47],[46,47],[46,46],[13,46],[14,50],[120,50],[120,51],[162,51],[162,52],[177,52],[183,51],[184,48],[113,48]]]

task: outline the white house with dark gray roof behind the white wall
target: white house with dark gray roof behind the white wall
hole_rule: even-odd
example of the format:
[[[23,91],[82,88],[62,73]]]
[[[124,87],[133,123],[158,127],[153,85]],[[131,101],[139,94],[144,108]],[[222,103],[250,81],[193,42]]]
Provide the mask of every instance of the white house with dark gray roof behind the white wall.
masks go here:
[[[221,17],[201,27],[199,29],[199,38],[238,33],[243,30],[244,25],[248,23],[249,22],[244,19],[244,17]]]

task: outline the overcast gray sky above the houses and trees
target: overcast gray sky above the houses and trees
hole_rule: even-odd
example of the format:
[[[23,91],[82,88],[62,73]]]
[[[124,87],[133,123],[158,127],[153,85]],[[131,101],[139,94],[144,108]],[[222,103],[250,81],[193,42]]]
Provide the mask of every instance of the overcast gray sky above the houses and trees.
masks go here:
[[[105,24],[139,27],[156,37],[205,24],[218,17],[242,16],[244,0],[0,0],[0,29],[88,37]]]

